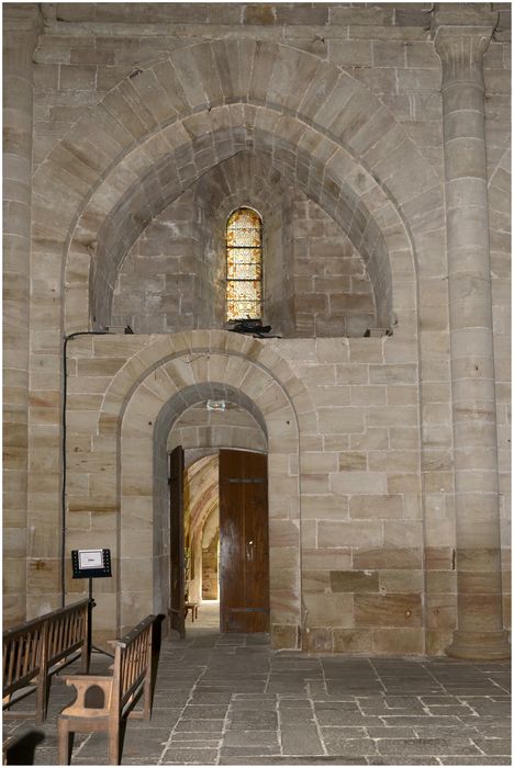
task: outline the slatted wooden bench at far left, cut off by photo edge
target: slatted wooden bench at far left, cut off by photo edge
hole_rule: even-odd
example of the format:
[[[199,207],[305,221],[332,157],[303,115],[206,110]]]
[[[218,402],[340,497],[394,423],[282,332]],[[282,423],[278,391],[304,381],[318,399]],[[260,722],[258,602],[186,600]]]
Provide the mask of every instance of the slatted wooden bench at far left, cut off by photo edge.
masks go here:
[[[81,671],[89,669],[89,621],[90,600],[86,598],[3,632],[4,718],[46,720],[52,676],[79,657]],[[9,710],[33,691],[35,711]]]

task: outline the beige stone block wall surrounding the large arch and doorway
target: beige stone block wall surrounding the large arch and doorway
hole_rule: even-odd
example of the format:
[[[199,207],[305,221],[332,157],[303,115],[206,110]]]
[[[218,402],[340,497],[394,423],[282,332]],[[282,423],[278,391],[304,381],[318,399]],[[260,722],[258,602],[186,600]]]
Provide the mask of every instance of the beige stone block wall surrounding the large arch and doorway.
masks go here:
[[[101,585],[99,629],[107,632],[114,615],[123,626],[138,606],[153,610],[166,600],[159,592],[166,567],[159,527],[166,502],[163,452],[172,414],[167,405],[158,410],[156,398],[172,400],[172,409],[177,392],[197,382],[233,385],[228,366],[239,371],[242,361],[250,360],[246,374],[266,381],[269,392],[256,394],[254,382],[239,384],[259,402],[266,428],[272,427],[272,483],[291,489],[301,478],[298,498],[270,492],[275,642],[382,652],[398,637],[404,652],[443,652],[456,625],[456,596],[466,595],[468,587],[462,583],[458,589],[455,572],[456,461],[462,454],[455,444],[460,433],[455,429],[450,321],[455,330],[459,313],[450,302],[455,271],[447,253],[455,218],[444,194],[455,166],[444,161],[446,65],[434,36],[440,24],[474,30],[483,19],[492,38],[483,55],[482,187],[489,195],[495,428],[507,569],[510,5],[445,5],[42,7],[45,25],[33,66],[31,285],[27,291],[14,281],[18,305],[12,305],[21,313],[20,329],[30,318],[29,371],[21,358],[9,363],[11,370],[24,371],[9,403],[14,406],[20,395],[21,411],[29,408],[30,441],[24,453],[23,440],[11,432],[9,458],[18,475],[4,512],[10,543],[20,556],[26,552],[26,571],[12,572],[8,621],[20,617],[16,596],[26,595],[27,615],[58,601],[63,336],[131,317],[137,330],[155,330],[161,339],[99,337],[74,339],[69,347],[68,544],[83,545],[101,531],[116,557],[115,578]],[[288,278],[283,295],[280,281],[272,282],[271,325],[289,338],[260,345],[220,331],[213,355],[202,352],[197,361],[186,352],[192,343],[189,330],[183,337],[166,331],[222,327],[220,292],[209,305],[209,289],[221,284],[215,263],[222,223],[231,205],[239,204],[236,199],[245,191],[241,169],[252,163],[260,171],[246,192],[265,217],[266,206],[270,208],[266,246],[273,255],[273,275],[283,270]],[[20,192],[26,185],[26,162],[15,178],[13,167],[9,189],[18,180]],[[193,191],[198,216],[189,228]],[[277,200],[283,200],[283,207]],[[152,242],[160,238],[154,235],[163,231],[163,212],[177,227],[170,244],[177,252],[163,253],[160,241],[157,255]],[[316,219],[323,221],[325,238],[317,253],[312,231],[304,242],[298,237],[302,227],[315,229]],[[333,307],[328,314],[323,308],[332,290],[322,292],[321,317],[312,307],[300,313],[300,296],[292,290],[292,268],[303,248],[308,269],[321,264],[325,249],[321,259],[328,271],[332,237],[344,257],[337,266],[348,270],[336,275],[339,296],[348,295],[343,283],[347,286],[350,278],[349,298],[335,298],[345,309],[349,301],[358,303],[355,317],[354,309],[351,317],[345,312],[344,332],[353,332],[349,319],[362,331],[372,293],[376,324],[391,328],[392,338],[291,338],[335,334]],[[168,264],[170,274],[163,260],[182,258],[186,247],[183,258],[193,260],[194,270],[186,262],[178,273],[185,279],[177,281],[175,262]],[[155,256],[157,264],[150,261]],[[136,267],[160,271],[137,285]],[[370,289],[360,280],[365,274]],[[320,294],[319,276],[309,275],[301,301]],[[474,297],[470,291],[458,301]],[[302,328],[294,325],[295,312],[306,315]],[[166,313],[171,313],[169,326]],[[27,326],[23,332],[29,345]],[[150,370],[148,350],[159,343],[167,351],[152,358]],[[205,349],[206,342],[194,343]],[[241,345],[241,358],[226,357],[227,348],[235,349],[231,345]],[[253,366],[253,355],[261,368]],[[262,362],[267,355],[271,368]],[[193,369],[197,379],[191,379]],[[470,391],[485,385],[484,379],[481,374],[477,385],[470,383]],[[286,419],[290,423],[276,418],[273,397],[294,414]],[[480,420],[478,400],[470,413]],[[150,487],[152,477],[156,487]],[[24,488],[26,520],[20,516]],[[477,493],[483,493],[480,483]],[[142,546],[158,552],[158,567],[138,558]],[[134,566],[141,567],[137,580]],[[280,584],[286,585],[282,591]]]

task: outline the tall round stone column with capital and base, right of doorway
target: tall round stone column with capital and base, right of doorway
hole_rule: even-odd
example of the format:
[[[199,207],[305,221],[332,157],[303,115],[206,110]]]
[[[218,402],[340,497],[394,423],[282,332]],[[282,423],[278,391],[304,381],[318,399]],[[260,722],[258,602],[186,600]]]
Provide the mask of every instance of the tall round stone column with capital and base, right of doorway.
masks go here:
[[[446,225],[450,301],[459,658],[502,658],[498,442],[494,391],[482,57],[496,22],[490,5],[434,19],[443,69]],[[457,12],[458,10],[458,12]]]

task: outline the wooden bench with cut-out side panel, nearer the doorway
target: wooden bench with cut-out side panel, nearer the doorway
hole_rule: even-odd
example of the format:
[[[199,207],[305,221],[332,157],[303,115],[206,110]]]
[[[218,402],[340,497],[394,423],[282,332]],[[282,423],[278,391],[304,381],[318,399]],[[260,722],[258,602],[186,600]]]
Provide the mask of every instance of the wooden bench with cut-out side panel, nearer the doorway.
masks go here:
[[[98,731],[108,734],[109,764],[119,765],[123,718],[150,719],[155,620],[155,615],[149,615],[122,640],[111,641],[114,647],[112,676],[66,675],[67,685],[77,689],[77,698],[57,718],[59,765],[70,763],[70,735]],[[143,709],[134,710],[141,697]]]

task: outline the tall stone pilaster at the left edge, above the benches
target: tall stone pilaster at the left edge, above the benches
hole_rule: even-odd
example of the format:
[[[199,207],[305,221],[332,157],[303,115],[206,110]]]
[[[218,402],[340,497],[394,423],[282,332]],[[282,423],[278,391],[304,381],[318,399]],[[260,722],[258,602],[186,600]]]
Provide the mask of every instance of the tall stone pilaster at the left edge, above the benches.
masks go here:
[[[32,57],[36,3],[3,5],[3,588],[7,625],[25,618]]]

